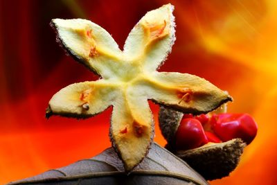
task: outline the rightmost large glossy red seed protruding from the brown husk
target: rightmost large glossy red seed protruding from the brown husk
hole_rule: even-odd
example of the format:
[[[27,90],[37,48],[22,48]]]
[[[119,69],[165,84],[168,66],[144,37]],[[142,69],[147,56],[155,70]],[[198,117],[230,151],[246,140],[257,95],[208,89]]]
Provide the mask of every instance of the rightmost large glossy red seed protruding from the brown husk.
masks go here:
[[[222,141],[240,138],[248,145],[257,134],[258,125],[249,114],[217,114],[211,120],[213,131]]]

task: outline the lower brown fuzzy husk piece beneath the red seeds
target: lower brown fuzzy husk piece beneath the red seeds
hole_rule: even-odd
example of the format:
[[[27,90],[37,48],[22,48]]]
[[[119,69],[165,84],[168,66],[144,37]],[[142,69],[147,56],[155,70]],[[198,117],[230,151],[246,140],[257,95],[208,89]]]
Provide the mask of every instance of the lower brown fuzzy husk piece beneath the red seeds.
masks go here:
[[[228,176],[238,166],[240,155],[246,146],[241,139],[232,139],[224,143],[211,143],[186,151],[177,151],[205,179],[221,179]]]

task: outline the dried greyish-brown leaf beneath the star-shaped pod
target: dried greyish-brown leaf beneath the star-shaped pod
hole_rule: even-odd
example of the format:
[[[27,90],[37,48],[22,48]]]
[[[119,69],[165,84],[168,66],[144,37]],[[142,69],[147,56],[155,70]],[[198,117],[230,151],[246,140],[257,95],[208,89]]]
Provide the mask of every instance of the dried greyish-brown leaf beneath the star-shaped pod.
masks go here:
[[[40,175],[21,179],[12,184],[208,184],[186,162],[152,144],[148,155],[130,173],[125,173],[123,162],[114,148],[104,150],[91,159],[69,166],[48,170]]]

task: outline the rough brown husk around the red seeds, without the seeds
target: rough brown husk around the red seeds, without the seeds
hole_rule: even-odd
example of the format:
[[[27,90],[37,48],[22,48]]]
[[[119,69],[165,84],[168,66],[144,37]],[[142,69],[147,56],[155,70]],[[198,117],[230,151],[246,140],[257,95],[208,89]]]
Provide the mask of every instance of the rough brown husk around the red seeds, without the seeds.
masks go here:
[[[238,166],[246,143],[241,139],[232,139],[223,143],[208,143],[190,150],[176,150],[175,132],[182,116],[181,112],[160,107],[159,125],[163,136],[168,141],[166,148],[184,159],[207,180],[228,176]]]

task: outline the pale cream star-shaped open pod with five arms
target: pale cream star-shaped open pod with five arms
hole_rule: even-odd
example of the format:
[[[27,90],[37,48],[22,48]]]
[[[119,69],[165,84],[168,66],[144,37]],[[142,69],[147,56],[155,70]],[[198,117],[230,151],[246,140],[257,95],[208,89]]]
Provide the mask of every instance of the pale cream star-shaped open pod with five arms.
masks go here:
[[[203,78],[157,71],[175,42],[173,9],[167,4],[148,12],[129,33],[123,51],[91,21],[51,21],[64,49],[102,78],[58,91],[46,116],[88,118],[112,106],[109,135],[126,171],[143,160],[152,144],[154,123],[148,100],[193,114],[210,112],[231,100]]]

